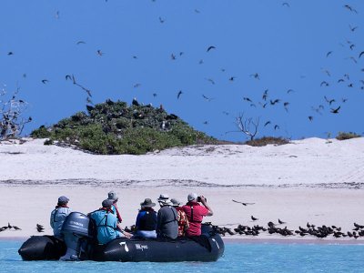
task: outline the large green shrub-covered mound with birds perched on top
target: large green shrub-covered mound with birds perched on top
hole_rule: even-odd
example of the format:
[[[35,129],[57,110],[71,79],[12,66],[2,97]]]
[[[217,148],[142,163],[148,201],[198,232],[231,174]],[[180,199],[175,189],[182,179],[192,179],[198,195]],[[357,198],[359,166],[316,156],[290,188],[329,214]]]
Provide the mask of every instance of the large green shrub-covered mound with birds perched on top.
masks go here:
[[[217,143],[162,107],[143,106],[136,100],[131,106],[111,100],[87,106],[87,114],[78,112],[56,125],[40,126],[31,136],[49,138],[45,145],[56,141],[103,155],[141,155],[168,147]]]

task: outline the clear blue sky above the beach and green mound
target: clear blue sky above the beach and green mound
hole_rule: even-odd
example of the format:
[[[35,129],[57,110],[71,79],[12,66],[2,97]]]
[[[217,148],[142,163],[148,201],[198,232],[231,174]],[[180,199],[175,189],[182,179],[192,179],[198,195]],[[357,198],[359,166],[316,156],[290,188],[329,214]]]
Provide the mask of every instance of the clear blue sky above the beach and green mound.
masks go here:
[[[86,111],[66,75],[95,104],[162,104],[220,139],[246,140],[242,113],[258,136],[363,134],[363,21],[359,0],[3,0],[0,85],[27,101],[25,134]]]

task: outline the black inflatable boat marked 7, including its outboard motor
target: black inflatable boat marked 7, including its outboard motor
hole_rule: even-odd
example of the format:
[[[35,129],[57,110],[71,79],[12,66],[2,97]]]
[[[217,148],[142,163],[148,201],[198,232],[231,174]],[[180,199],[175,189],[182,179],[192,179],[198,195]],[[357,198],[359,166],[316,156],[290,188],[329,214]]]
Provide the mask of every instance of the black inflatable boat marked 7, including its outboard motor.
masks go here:
[[[91,235],[91,221],[73,212],[63,227],[64,240],[53,236],[33,236],[18,252],[24,260],[96,260],[96,261],[216,261],[224,253],[224,242],[208,224],[195,238],[151,239],[116,238],[97,245]]]

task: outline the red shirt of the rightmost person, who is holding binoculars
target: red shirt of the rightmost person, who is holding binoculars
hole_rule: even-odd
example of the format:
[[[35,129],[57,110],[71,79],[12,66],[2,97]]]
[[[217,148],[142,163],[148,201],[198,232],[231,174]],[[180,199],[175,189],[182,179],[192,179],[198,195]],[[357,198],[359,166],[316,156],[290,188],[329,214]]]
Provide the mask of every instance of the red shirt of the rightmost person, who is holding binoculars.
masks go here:
[[[191,209],[191,207],[193,207]],[[182,207],[185,210],[189,227],[186,231],[187,236],[200,236],[201,235],[201,222],[207,216],[208,209],[199,205],[197,202],[188,202]],[[193,219],[191,218],[191,210],[193,210]]]

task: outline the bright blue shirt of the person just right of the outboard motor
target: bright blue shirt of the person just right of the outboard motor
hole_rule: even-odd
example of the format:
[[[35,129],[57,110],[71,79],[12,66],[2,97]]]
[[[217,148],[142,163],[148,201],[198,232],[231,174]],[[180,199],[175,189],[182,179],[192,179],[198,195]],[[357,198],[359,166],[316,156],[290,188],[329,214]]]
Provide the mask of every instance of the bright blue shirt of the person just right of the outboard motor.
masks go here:
[[[117,218],[112,212],[99,209],[91,212],[90,217],[96,222],[97,240],[99,244],[106,244],[109,241],[120,237],[120,232],[116,230]]]

